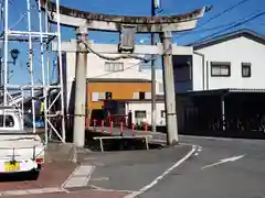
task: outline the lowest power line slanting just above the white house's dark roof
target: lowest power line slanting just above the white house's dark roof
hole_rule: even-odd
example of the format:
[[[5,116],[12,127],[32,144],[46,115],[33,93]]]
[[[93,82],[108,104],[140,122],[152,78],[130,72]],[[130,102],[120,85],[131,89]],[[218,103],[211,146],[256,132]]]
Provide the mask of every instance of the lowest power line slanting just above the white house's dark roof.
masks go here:
[[[198,43],[200,43],[200,42],[203,42],[203,41],[205,41],[205,40],[210,40],[211,37],[218,35],[218,34],[220,34],[220,33],[222,33],[222,32],[225,32],[225,31],[229,31],[229,30],[234,29],[234,28],[236,28],[236,26],[240,26],[240,25],[242,25],[242,24],[244,24],[244,23],[247,23],[247,22],[250,22],[250,21],[252,21],[252,20],[254,20],[254,19],[256,19],[256,18],[258,18],[258,16],[261,16],[261,15],[264,15],[264,14],[265,14],[265,11],[259,12],[259,13],[257,13],[257,14],[253,14],[253,15],[251,15],[250,18],[243,19],[242,21],[240,21],[240,22],[237,22],[237,23],[235,23],[235,24],[232,24],[232,25],[230,25],[229,28],[226,28],[226,29],[224,29],[224,30],[222,30],[222,31],[218,31],[218,32],[215,32],[215,33],[213,33],[213,34],[210,34],[210,35],[208,35],[208,36],[205,36],[205,37],[203,37],[203,38],[200,38],[200,40],[193,42],[192,45],[195,45],[195,44],[198,44]]]

